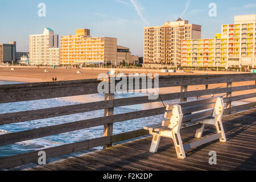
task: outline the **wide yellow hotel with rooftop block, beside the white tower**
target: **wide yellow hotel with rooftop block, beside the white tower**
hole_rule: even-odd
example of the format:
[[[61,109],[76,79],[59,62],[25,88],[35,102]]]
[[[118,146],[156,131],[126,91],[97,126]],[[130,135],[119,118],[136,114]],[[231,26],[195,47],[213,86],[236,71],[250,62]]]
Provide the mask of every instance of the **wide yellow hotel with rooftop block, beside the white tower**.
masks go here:
[[[76,30],[76,35],[61,36],[60,64],[97,64],[117,60],[117,38],[92,38],[90,30]]]

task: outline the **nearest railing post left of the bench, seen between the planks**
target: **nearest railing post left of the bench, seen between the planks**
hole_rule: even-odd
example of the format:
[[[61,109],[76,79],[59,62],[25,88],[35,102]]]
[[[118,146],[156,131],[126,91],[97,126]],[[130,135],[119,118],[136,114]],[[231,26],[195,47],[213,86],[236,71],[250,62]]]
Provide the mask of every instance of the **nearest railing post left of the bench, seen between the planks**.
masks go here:
[[[115,94],[114,93],[105,93],[105,100],[114,100]],[[114,107],[110,107],[105,109],[104,116],[114,115]],[[113,135],[113,123],[104,125],[104,137],[112,136]],[[112,143],[103,146],[103,150],[108,147],[112,147]]]

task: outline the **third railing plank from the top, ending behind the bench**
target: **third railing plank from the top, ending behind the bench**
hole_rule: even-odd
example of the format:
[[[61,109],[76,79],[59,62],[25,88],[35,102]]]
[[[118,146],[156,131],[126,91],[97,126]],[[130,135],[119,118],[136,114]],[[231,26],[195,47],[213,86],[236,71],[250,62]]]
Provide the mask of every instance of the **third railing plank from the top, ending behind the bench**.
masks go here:
[[[163,114],[164,110],[165,110],[164,107],[159,107],[156,109],[148,109],[148,110],[135,111],[132,113],[110,115],[108,117],[85,119],[83,121],[69,122],[69,123],[63,123],[60,125],[42,127],[39,129],[4,134],[4,135],[0,135],[0,146],[3,146],[5,144],[10,144],[10,143],[22,142],[24,140],[47,137],[49,135],[56,135],[60,133],[67,133],[70,131],[87,129],[90,127],[101,126],[109,123],[116,123],[116,122],[128,121],[131,119],[150,117],[153,115]]]

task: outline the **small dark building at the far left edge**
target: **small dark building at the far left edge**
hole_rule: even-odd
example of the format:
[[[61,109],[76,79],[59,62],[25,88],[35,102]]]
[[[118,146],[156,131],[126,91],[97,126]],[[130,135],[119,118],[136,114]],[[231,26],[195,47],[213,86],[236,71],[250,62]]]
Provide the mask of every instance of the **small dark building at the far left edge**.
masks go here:
[[[16,60],[16,42],[0,44],[0,64],[14,63]]]

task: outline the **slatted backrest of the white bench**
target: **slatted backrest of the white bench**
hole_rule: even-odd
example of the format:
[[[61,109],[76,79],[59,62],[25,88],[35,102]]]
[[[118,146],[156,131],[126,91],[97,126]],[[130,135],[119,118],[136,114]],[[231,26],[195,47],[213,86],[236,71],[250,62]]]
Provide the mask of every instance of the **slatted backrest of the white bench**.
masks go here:
[[[216,107],[217,102],[218,102],[218,107],[220,107],[221,105],[221,108]],[[177,105],[180,106],[181,108],[180,111],[174,110],[174,106],[177,106]],[[176,114],[176,115],[178,113],[183,114],[182,123],[196,121],[203,118],[214,117],[214,115],[218,114],[220,110],[222,111],[224,104],[223,104],[222,98],[213,97],[213,98],[207,98],[203,100],[181,102],[177,105],[167,105],[166,113],[164,114],[164,117],[166,118],[166,120],[163,121],[163,124],[162,124],[163,126],[168,125],[169,127],[172,127],[174,125],[173,124],[174,121],[171,121],[172,114]],[[175,107],[175,109],[177,108]]]

